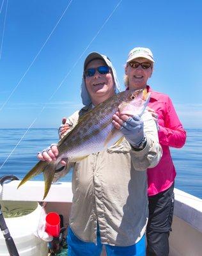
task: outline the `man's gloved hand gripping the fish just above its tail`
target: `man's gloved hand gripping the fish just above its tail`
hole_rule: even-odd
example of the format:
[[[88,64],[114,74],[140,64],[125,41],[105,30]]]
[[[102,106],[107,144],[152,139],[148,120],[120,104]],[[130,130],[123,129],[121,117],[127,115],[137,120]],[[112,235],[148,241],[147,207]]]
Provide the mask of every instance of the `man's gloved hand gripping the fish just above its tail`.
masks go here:
[[[56,158],[58,156],[58,147],[56,144],[50,145],[50,147],[42,150],[42,152],[38,152],[37,158],[41,161],[47,161],[47,162],[52,162],[56,161]],[[66,165],[65,161],[60,162],[62,165]]]

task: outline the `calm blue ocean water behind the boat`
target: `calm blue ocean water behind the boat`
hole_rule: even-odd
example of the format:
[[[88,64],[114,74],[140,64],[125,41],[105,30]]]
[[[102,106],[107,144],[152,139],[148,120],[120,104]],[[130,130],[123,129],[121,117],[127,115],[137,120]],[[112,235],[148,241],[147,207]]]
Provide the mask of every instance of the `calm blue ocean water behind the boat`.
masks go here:
[[[58,141],[56,129],[30,129],[19,143],[25,132],[26,129],[0,129],[0,177],[13,174],[22,179],[37,163],[36,152]],[[175,188],[202,198],[202,129],[187,129],[185,146],[171,148],[171,154],[177,173]],[[69,172],[61,181],[71,179]],[[33,180],[43,180],[43,175]]]

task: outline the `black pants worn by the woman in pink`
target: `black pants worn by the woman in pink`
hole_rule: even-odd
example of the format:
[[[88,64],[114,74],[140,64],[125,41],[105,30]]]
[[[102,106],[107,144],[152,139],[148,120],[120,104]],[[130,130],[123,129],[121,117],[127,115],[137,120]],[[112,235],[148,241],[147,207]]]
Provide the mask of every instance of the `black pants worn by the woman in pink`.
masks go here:
[[[148,196],[149,220],[146,227],[147,256],[169,255],[169,232],[173,221],[173,185],[154,196]]]

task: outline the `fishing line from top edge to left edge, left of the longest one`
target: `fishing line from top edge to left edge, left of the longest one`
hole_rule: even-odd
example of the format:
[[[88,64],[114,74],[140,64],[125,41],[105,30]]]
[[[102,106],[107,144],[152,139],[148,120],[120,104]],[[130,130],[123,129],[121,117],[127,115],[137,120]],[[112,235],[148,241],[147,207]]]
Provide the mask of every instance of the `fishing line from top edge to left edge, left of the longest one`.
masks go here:
[[[31,64],[29,65],[29,67],[27,68],[26,72],[24,72],[24,75],[20,78],[19,83],[17,83],[17,85],[15,86],[15,88],[13,89],[12,93],[10,93],[8,99],[6,100],[6,102],[4,102],[3,106],[1,106],[0,111],[4,108],[4,106],[6,105],[6,103],[8,102],[8,100],[10,100],[10,97],[12,97],[13,93],[15,92],[15,90],[18,88],[19,84],[21,83],[22,79],[26,76],[27,72],[29,71],[29,69],[32,67],[33,63],[35,63],[36,58],[38,57],[38,55],[40,54],[40,52],[42,51],[43,47],[47,44],[50,36],[52,36],[52,33],[54,32],[54,30],[56,29],[56,27],[58,26],[60,20],[63,18],[63,16],[65,15],[66,10],[68,10],[68,7],[70,6],[70,4],[72,3],[73,0],[70,0],[70,3],[68,3],[68,6],[66,7],[65,11],[63,12],[63,14],[61,15],[61,17],[59,18],[58,22],[56,23],[56,26],[54,26],[54,28],[52,29],[52,31],[50,32],[50,35],[47,37],[47,40],[45,40],[45,42],[43,43],[40,51],[38,52],[38,54],[36,54],[34,60],[31,62]]]

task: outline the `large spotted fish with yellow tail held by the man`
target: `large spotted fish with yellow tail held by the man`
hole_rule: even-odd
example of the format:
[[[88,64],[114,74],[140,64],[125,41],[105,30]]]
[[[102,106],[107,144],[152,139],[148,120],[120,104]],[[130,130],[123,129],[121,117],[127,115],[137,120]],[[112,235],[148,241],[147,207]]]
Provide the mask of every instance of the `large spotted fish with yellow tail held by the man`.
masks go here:
[[[69,162],[81,161],[89,154],[97,153],[119,143],[123,134],[112,124],[116,111],[121,114],[142,115],[150,100],[150,93],[144,90],[127,90],[98,104],[85,115],[81,116],[72,131],[58,142],[56,161],[47,163],[39,161],[22,179],[19,186],[27,180],[43,172],[45,192],[47,196],[54,173],[61,159]],[[19,188],[19,187],[18,187]]]

